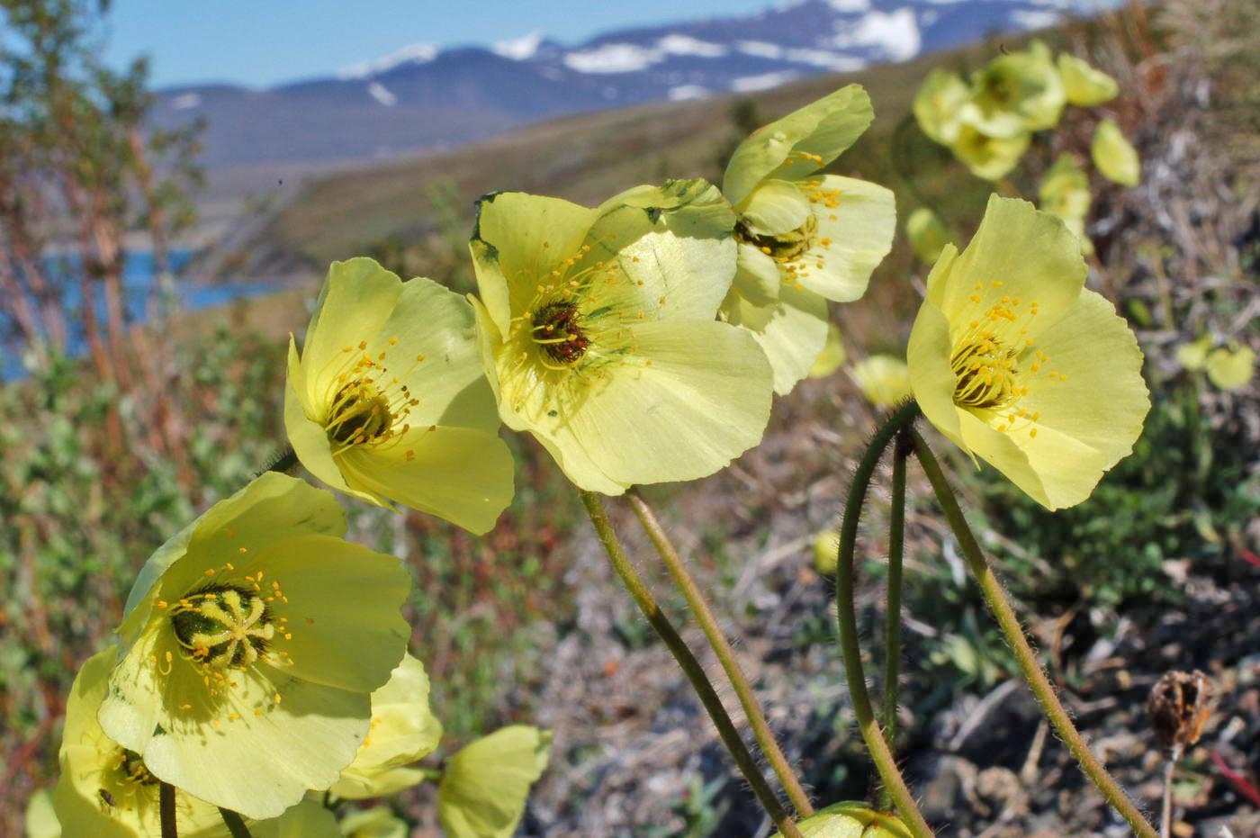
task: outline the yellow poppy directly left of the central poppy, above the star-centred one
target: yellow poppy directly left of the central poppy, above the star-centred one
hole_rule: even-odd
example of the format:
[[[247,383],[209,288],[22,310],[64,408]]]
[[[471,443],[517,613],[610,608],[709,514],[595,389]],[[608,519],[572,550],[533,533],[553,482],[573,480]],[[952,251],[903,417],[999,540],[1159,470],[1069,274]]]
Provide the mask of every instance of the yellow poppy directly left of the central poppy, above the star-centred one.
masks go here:
[[[512,502],[512,455],[472,309],[369,258],[333,262],[299,358],[285,427],[302,465],[339,491],[393,500],[474,533]]]

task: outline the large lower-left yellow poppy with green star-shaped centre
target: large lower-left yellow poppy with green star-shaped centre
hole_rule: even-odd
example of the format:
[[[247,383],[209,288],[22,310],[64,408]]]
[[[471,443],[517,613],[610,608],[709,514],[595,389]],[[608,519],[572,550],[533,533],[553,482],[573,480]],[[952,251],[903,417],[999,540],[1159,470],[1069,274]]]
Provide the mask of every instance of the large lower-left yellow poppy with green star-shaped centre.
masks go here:
[[[249,818],[333,785],[411,634],[407,571],[344,533],[331,493],[267,473],[163,544],[117,629],[106,735]]]

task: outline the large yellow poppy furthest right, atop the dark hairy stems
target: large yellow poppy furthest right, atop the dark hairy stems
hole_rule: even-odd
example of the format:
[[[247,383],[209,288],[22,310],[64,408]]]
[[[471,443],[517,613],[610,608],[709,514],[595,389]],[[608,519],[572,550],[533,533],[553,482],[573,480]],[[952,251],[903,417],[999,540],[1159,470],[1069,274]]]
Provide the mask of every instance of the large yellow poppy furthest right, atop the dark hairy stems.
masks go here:
[[[990,197],[966,250],[932,268],[910,335],[924,416],[1048,509],[1085,500],[1150,407],[1137,339],[1086,272],[1060,219]]]

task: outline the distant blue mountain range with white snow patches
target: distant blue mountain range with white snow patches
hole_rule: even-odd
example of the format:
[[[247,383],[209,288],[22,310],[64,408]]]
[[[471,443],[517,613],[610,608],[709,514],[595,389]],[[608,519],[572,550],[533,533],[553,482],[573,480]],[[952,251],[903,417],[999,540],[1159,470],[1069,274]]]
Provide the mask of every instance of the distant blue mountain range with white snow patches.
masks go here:
[[[205,117],[210,166],[353,161],[486,139],[524,122],[654,100],[767,89],[1041,28],[1113,0],[804,0],[756,15],[488,47],[410,44],[266,89],[161,91],[156,121]]]

